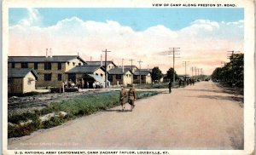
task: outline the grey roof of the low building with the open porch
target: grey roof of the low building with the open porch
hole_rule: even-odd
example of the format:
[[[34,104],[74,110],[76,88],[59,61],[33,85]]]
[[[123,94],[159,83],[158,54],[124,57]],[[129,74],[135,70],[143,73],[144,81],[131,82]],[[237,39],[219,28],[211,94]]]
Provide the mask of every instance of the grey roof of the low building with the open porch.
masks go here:
[[[93,74],[97,69],[101,68],[99,65],[84,65],[84,66],[75,66],[72,69],[68,70],[66,73],[86,73]]]

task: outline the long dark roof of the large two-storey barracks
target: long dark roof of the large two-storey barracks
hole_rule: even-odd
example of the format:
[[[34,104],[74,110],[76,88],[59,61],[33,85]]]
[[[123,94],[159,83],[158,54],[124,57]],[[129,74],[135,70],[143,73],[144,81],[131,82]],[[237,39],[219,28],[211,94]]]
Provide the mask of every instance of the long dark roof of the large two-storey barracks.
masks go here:
[[[68,62],[69,60],[79,59],[86,63],[78,55],[54,55],[52,57],[46,56],[9,56],[8,62]]]

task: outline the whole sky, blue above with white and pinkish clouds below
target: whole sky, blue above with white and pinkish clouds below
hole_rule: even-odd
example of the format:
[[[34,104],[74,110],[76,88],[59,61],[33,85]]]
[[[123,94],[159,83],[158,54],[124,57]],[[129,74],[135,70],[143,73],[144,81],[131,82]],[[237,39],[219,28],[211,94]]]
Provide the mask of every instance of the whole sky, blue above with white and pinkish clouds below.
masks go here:
[[[9,55],[79,55],[100,60],[108,49],[108,60],[118,66],[159,66],[165,73],[192,74],[190,67],[205,74],[222,66],[227,51],[243,51],[243,9],[154,9],[154,8],[14,8],[9,9]],[[171,49],[170,49],[171,48]],[[183,61],[189,61],[187,69]],[[195,72],[194,72],[195,74]]]

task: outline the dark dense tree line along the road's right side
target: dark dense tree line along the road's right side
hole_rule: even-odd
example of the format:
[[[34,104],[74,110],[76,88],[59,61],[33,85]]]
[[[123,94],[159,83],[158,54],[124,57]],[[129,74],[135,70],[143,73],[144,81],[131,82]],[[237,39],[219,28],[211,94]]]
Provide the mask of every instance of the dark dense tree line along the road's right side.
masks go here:
[[[224,67],[218,67],[212,72],[212,81],[243,88],[243,76],[244,55],[234,54],[230,56],[230,62],[226,63]]]

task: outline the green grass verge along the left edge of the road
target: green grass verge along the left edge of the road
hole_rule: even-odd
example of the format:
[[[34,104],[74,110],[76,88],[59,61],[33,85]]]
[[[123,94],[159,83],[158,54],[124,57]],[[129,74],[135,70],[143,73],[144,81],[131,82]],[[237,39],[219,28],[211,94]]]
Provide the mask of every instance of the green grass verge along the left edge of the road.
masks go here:
[[[158,92],[155,91],[138,91],[137,99],[157,94]],[[15,125],[9,124],[8,137],[11,138],[30,135],[33,131],[38,129],[49,129],[51,127],[61,125],[61,123],[65,123],[68,120],[90,115],[94,112],[106,110],[114,106],[119,106],[119,91],[112,91],[98,95],[80,95],[75,99],[50,103],[49,106],[40,111],[35,110],[32,112],[12,114],[9,115],[8,121]],[[41,122],[39,117],[52,112],[59,113],[59,115]],[[63,116],[60,112],[67,112],[67,115]],[[27,122],[28,120],[32,120],[32,123],[20,125],[21,122]]]

